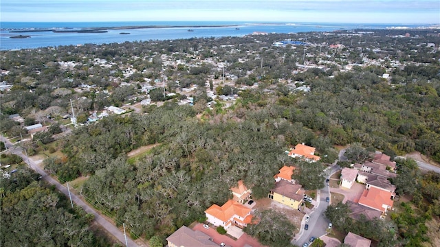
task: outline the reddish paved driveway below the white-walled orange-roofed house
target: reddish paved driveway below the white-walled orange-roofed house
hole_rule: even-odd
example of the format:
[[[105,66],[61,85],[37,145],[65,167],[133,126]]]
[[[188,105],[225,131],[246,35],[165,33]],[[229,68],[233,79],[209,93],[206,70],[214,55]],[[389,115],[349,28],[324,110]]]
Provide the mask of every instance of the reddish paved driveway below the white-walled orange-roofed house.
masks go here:
[[[212,226],[212,225],[210,225]],[[251,237],[250,235],[243,233],[239,239],[232,239],[228,237],[227,235],[221,235],[220,233],[217,233],[214,227],[210,227],[209,229],[203,228],[203,224],[196,224],[192,230],[196,231],[199,230],[202,233],[206,233],[206,235],[212,237],[214,243],[221,244],[225,243],[228,246],[232,247],[244,247],[246,244],[252,246],[252,247],[264,247],[262,244],[260,244],[256,239]]]

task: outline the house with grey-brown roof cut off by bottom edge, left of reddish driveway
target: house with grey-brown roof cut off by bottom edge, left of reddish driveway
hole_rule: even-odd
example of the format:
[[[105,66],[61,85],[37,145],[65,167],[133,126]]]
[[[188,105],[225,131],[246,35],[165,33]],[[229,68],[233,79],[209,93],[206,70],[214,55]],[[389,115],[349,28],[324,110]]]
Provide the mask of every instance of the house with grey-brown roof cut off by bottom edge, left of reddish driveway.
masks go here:
[[[168,247],[219,246],[219,244],[212,242],[210,236],[198,230],[192,231],[186,226],[181,226],[181,228],[167,237],[166,241],[168,242]]]

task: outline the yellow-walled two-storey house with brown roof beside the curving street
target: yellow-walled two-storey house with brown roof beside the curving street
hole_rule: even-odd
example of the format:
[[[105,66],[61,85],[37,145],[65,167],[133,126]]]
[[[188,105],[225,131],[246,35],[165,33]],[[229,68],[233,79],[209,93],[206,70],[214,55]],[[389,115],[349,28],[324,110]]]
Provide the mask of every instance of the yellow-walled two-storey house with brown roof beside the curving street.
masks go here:
[[[294,185],[285,180],[280,180],[275,183],[274,189],[269,193],[269,198],[285,204],[292,209],[299,209],[300,204],[303,203],[304,192],[302,185]]]

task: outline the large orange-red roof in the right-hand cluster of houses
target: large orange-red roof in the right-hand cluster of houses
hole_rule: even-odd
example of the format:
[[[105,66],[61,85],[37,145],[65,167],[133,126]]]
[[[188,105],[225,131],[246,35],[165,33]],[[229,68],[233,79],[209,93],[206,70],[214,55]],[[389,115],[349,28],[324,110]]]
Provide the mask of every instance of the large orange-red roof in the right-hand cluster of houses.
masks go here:
[[[362,193],[362,196],[359,199],[359,204],[385,212],[386,209],[382,207],[382,205],[385,204],[386,206],[393,207],[393,200],[391,200],[391,196],[394,195],[394,193],[389,191],[377,189],[376,187],[370,187],[370,189],[365,189]]]

